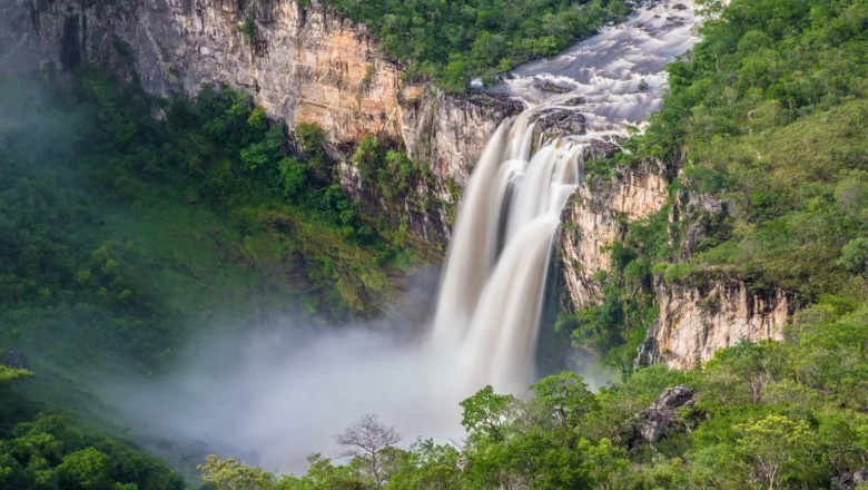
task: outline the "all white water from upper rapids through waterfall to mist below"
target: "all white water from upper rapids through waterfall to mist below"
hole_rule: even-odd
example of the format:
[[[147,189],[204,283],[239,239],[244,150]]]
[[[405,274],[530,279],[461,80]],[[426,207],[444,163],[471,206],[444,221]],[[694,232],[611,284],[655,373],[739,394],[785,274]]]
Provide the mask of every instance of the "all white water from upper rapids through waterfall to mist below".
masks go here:
[[[158,444],[195,441],[185,458],[216,451],[277,471],[304,472],[308,453],[332,454],[334,434],[364,413],[395,425],[405,443],[420,434],[458,440],[463,398],[485,384],[521,393],[533,380],[551,242],[581,178],[582,145],[623,134],[659,107],[660,70],[697,39],[688,26],[692,2],[680,2],[689,10],[675,3],[643,8],[558,58],[516,69],[497,88],[531,109],[497,129],[464,189],[431,339],[405,342],[364,326],[209,339],[191,347],[198,361],[176,379],[116,388],[119,405],[145,421]],[[638,89],[640,79],[648,90]],[[540,80],[574,91],[544,92],[534,88]],[[576,96],[588,101],[569,110],[588,118],[589,135],[532,141],[532,111]],[[534,143],[541,147],[532,154]],[[230,373],[215,373],[215,365]]]

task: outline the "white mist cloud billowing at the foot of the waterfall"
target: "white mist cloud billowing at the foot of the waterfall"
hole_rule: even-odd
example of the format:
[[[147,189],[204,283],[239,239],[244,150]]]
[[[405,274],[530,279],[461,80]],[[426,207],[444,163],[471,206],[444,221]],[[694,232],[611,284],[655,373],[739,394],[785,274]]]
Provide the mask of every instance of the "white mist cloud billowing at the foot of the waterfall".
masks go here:
[[[407,447],[460,442],[462,392],[447,345],[376,325],[316,331],[297,318],[196,342],[177,373],[110,390],[148,439],[304,473],[335,434],[373,413]],[[408,330],[418,330],[416,326]],[[164,442],[165,444],[165,442]]]

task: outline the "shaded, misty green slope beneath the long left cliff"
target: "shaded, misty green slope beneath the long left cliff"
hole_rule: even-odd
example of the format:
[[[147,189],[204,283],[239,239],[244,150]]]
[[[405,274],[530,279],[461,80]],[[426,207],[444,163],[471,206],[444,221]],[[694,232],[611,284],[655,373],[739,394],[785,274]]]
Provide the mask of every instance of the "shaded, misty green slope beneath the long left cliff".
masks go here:
[[[203,310],[365,316],[388,297],[377,266],[395,251],[334,183],[318,128],[299,127],[292,154],[286,128],[240,92],[162,102],[93,70],[71,104],[3,90],[18,117],[0,135],[9,340],[51,335],[82,360],[152,370]]]

